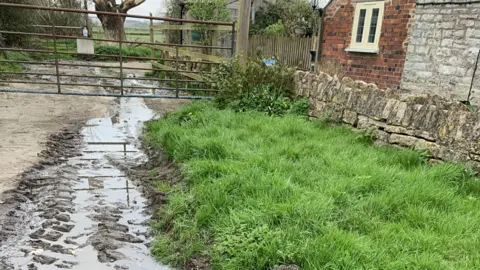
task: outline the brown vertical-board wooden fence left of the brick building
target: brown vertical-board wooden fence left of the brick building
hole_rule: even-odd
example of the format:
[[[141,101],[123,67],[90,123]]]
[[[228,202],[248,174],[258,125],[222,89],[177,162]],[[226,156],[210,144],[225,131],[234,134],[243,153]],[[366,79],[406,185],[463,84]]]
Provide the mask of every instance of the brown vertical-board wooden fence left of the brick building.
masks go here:
[[[273,56],[289,66],[309,70],[310,50],[314,48],[315,42],[316,38],[254,35],[249,38],[248,53],[250,56]]]

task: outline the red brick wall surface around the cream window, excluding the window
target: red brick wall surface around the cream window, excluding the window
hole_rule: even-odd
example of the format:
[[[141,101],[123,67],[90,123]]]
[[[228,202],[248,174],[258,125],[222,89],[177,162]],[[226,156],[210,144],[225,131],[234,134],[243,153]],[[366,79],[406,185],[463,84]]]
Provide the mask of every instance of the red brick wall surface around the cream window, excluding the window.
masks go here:
[[[334,0],[326,8],[320,61],[341,64],[353,79],[399,89],[415,0],[385,1],[378,54],[345,52],[351,41],[355,2]]]

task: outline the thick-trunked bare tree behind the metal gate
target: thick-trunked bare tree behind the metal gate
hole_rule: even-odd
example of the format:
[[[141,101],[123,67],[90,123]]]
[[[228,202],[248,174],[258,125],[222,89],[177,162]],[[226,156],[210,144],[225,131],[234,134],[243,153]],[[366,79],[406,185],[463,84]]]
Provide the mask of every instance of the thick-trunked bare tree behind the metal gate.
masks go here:
[[[116,0],[93,0],[96,11],[106,11],[126,14],[130,9],[141,5],[145,0],[124,0],[120,4]],[[125,38],[125,30],[123,24],[125,17],[100,15],[98,19],[102,23],[105,38],[118,40],[120,37]]]

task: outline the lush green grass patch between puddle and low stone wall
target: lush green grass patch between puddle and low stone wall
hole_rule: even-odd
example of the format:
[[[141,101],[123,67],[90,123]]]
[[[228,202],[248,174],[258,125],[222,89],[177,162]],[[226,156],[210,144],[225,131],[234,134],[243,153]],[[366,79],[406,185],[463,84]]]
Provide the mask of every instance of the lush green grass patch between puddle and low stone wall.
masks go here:
[[[181,164],[153,253],[212,269],[479,269],[480,184],[325,121],[193,103],[145,140]],[[161,181],[159,179],[158,181]]]

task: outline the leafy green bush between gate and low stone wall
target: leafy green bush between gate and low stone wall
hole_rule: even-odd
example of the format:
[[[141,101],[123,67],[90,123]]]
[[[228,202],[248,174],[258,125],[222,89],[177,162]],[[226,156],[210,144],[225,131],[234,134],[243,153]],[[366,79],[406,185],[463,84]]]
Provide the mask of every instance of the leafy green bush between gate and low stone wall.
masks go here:
[[[219,90],[215,103],[221,109],[268,115],[305,115],[308,109],[307,100],[295,100],[294,69],[282,64],[267,66],[260,58],[251,58],[242,67],[238,59],[232,59],[204,77],[210,88]]]

